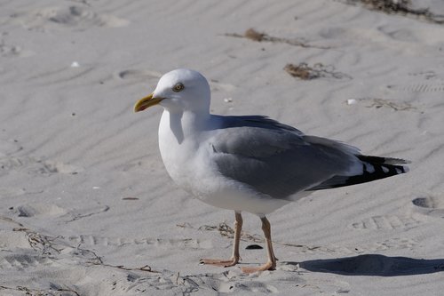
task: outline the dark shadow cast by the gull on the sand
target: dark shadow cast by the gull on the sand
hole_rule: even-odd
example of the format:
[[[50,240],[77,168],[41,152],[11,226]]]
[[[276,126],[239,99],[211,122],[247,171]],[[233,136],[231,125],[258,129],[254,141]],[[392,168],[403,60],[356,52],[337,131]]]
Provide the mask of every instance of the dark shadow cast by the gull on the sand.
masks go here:
[[[287,262],[314,272],[346,276],[413,276],[444,271],[444,259],[414,259],[363,254],[353,257]]]

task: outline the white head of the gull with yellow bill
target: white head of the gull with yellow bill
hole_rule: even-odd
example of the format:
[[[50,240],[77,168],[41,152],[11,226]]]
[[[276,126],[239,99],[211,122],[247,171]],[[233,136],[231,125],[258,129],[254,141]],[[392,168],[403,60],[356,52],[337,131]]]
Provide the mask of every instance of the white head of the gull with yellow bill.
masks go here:
[[[134,112],[161,105],[170,112],[210,112],[210,85],[201,73],[178,68],[164,74],[155,91],[134,105]]]

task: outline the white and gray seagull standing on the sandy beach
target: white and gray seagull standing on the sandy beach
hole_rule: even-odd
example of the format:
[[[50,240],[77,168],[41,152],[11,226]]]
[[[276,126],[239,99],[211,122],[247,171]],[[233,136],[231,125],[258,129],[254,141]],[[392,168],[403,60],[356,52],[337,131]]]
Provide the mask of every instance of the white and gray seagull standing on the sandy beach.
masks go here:
[[[139,112],[163,107],[159,148],[170,178],[203,203],[234,211],[234,246],[228,260],[239,263],[242,212],[258,215],[267,261],[245,273],[276,268],[266,215],[316,190],[340,188],[408,172],[408,161],[365,156],[337,140],[305,135],[267,116],[210,114],[210,85],[201,73],[178,68],[164,74],[155,91],[136,102]]]

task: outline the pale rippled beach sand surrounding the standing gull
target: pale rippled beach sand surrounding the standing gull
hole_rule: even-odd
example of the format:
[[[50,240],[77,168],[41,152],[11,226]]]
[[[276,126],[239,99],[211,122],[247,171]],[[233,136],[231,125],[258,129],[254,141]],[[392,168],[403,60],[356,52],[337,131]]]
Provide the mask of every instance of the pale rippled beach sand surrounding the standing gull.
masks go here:
[[[21,0],[0,24],[1,295],[444,290],[442,22],[332,0]],[[275,271],[199,265],[229,256],[234,213],[171,182],[162,108],[132,113],[183,67],[209,78],[214,113],[272,116],[410,172],[269,215]],[[261,237],[246,214],[242,264],[263,263],[246,249]]]

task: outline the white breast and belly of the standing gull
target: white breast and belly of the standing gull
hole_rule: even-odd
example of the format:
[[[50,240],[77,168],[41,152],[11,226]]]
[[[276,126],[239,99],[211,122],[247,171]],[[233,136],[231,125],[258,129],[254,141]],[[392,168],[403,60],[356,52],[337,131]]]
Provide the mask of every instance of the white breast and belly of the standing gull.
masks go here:
[[[183,131],[175,131],[170,119],[170,114],[164,111],[159,126],[159,148],[163,164],[179,188],[206,204],[234,211],[266,214],[289,203],[221,175],[212,162],[213,151],[205,140],[206,132],[190,132],[186,126],[182,126]]]

